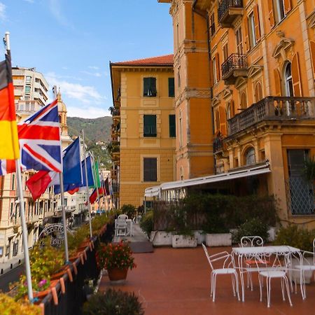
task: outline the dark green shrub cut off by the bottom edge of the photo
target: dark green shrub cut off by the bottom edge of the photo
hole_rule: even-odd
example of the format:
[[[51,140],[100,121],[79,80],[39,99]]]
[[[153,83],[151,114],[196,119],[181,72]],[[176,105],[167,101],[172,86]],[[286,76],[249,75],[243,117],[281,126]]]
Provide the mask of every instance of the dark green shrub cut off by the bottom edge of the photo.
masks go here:
[[[144,315],[139,299],[134,293],[109,288],[97,293],[83,306],[84,315]]]

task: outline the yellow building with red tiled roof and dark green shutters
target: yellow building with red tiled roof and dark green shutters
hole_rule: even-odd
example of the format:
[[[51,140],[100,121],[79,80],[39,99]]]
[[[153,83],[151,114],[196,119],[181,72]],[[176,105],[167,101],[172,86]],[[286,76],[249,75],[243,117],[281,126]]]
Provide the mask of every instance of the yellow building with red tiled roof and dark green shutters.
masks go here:
[[[144,204],[144,190],[175,179],[173,55],[110,64],[114,203]]]

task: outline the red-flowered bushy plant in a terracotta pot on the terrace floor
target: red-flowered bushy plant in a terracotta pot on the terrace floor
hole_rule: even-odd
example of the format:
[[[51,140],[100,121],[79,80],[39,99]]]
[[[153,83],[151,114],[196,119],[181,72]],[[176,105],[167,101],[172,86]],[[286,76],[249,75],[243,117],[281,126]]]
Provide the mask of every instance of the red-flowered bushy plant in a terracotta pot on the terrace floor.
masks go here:
[[[125,280],[128,269],[136,267],[132,250],[125,241],[100,244],[97,250],[97,260],[100,268],[107,269],[111,281]]]

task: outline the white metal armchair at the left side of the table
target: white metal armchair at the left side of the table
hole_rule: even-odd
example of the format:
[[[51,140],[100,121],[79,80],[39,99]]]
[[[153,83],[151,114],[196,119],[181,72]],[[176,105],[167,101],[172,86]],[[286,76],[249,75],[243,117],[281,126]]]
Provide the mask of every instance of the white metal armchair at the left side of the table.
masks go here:
[[[239,299],[239,279],[237,276],[237,270],[235,269],[235,262],[232,255],[230,255],[227,251],[223,251],[221,253],[217,253],[214,255],[209,255],[207,251],[207,247],[202,244],[204,248],[204,253],[206,253],[209,265],[211,267],[211,293],[212,300],[216,300],[216,276],[218,274],[231,274],[232,275],[232,289],[233,295],[237,294],[237,298]],[[220,261],[222,262],[221,268],[214,268],[213,262]]]

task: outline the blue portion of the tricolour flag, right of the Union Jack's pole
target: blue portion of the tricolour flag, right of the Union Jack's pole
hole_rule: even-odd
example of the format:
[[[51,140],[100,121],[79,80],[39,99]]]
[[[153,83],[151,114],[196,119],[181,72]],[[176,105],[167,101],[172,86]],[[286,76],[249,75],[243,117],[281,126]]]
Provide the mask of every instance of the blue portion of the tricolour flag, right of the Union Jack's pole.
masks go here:
[[[82,186],[83,178],[80,160],[80,138],[77,138],[63,151],[62,164],[65,192]],[[55,185],[54,190],[55,194],[59,194],[60,186]]]

